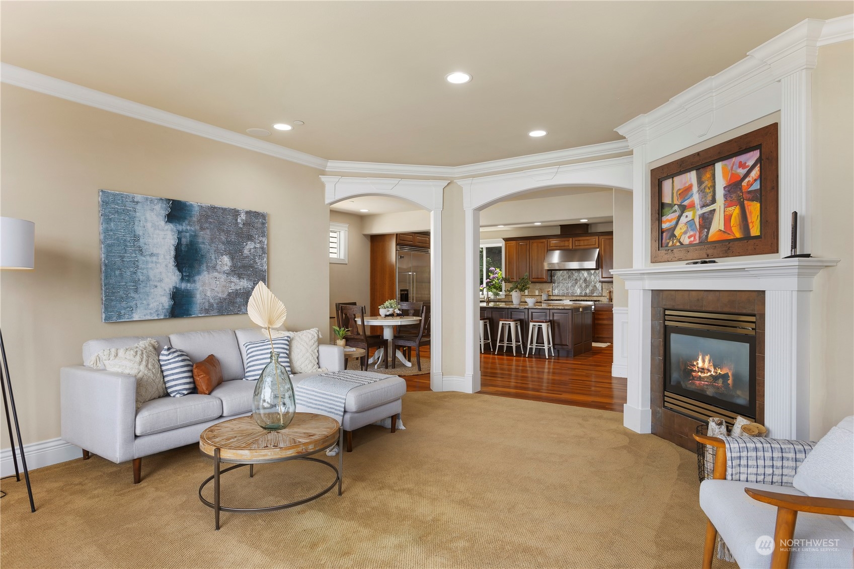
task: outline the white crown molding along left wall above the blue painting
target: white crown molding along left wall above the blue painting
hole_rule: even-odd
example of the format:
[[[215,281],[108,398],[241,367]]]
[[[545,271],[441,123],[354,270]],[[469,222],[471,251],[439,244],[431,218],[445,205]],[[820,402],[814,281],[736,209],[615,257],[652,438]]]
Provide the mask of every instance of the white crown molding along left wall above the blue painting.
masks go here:
[[[133,119],[145,120],[155,125],[167,126],[178,131],[189,132],[196,136],[231,144],[232,146],[239,146],[246,150],[253,150],[261,154],[282,158],[303,166],[323,170],[327,164],[327,161],[319,156],[285,148],[278,144],[268,143],[246,134],[240,134],[219,126],[208,125],[200,120],[188,119],[179,114],[155,109],[142,103],[134,103],[121,97],[109,95],[102,91],[95,91],[82,85],[75,85],[62,79],[56,79],[55,77],[24,69],[23,67],[15,67],[14,65],[9,65],[9,63],[0,63],[0,81],[31,91],[38,91],[52,97],[66,99],[73,103],[84,104],[111,113],[124,114]]]

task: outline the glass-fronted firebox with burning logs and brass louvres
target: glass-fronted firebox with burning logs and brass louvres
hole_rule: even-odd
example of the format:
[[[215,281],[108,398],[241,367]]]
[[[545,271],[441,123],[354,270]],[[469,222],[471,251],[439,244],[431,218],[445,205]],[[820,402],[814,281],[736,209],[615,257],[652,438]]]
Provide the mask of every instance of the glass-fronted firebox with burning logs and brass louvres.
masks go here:
[[[664,408],[756,419],[756,315],[664,310]]]

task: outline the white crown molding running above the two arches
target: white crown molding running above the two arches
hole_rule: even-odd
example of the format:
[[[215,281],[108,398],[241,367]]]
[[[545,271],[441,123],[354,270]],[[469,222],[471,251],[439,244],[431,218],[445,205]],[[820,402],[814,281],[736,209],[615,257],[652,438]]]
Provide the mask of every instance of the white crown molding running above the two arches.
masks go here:
[[[516,168],[530,168],[553,164],[555,162],[584,160],[612,154],[629,152],[629,142],[626,140],[614,140],[601,144],[589,144],[564,150],[552,150],[540,154],[529,154],[502,158],[476,164],[465,164],[463,166],[422,166],[418,164],[387,164],[383,162],[354,162],[330,160],[326,167],[327,172],[347,173],[378,173],[399,176],[442,176],[447,178],[460,178],[466,176],[477,176],[484,173],[498,173],[504,170]]]

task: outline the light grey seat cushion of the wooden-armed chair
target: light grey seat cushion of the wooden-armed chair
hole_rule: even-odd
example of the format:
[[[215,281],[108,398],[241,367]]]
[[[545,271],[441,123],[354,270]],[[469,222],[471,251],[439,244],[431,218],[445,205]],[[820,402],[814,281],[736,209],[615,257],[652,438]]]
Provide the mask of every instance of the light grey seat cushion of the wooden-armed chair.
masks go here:
[[[759,553],[757,540],[763,536],[773,539],[777,508],[747,496],[745,488],[757,488],[795,496],[804,496],[804,493],[791,486],[735,480],[704,480],[699,486],[699,505],[715,525],[723,541],[727,543],[729,551],[738,561],[739,566],[769,567],[771,555]],[[828,569],[851,567],[854,532],[851,532],[837,516],[798,513],[794,539],[838,539],[839,543],[832,548],[827,548],[829,550],[820,552],[794,548],[789,560],[790,569],[812,569],[816,566]]]

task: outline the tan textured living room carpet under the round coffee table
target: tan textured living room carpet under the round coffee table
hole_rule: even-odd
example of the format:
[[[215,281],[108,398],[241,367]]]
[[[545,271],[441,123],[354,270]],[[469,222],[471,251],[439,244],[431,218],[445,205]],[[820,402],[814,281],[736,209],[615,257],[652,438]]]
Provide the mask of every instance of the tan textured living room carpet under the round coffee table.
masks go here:
[[[272,513],[213,511],[194,445],[100,457],[3,480],[7,567],[693,567],[705,517],[694,455],[627,431],[622,415],[462,393],[407,393],[406,431],[354,433],[344,494]],[[319,456],[323,456],[322,454]],[[307,490],[322,466],[223,475],[223,501]],[[312,479],[315,478],[316,479]],[[716,566],[734,567],[716,560]]]

